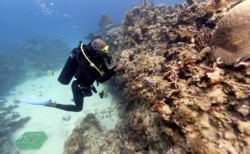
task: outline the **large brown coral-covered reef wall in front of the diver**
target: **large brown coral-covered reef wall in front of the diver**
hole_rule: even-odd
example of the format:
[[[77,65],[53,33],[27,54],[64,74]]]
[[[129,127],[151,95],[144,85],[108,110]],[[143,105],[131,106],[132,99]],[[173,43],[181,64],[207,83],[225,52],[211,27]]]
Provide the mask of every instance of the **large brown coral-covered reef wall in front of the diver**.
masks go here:
[[[120,147],[124,153],[249,153],[250,68],[220,67],[218,57],[211,60],[212,45],[217,46],[213,40],[232,43],[218,37],[220,23],[248,2],[215,2],[219,15],[218,11],[208,12],[208,1],[137,6],[126,12],[121,26],[99,32],[110,42],[119,38],[112,53],[125,65],[108,87],[119,96],[124,109],[123,123],[115,130],[119,135],[113,134],[118,144],[110,149]],[[246,22],[228,24],[245,27]],[[245,34],[243,38],[245,41]],[[242,43],[234,41],[239,46]],[[226,55],[220,56],[223,60]],[[234,56],[233,62],[242,56]]]

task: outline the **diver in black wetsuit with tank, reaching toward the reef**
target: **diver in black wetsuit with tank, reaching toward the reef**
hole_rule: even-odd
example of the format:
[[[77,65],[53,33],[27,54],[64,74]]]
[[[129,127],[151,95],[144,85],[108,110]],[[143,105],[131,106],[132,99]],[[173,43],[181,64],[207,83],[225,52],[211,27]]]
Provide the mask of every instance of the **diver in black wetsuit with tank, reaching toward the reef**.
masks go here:
[[[75,105],[53,102],[47,106],[66,111],[81,111],[84,97],[92,96],[92,91],[97,92],[93,83],[95,81],[103,83],[123,69],[122,64],[117,64],[109,69],[107,64],[110,62],[111,56],[108,55],[108,46],[101,37],[94,37],[87,45],[80,42],[79,46],[70,52],[70,56],[58,77],[58,81],[64,85],[69,84],[73,76],[75,77],[71,84]]]

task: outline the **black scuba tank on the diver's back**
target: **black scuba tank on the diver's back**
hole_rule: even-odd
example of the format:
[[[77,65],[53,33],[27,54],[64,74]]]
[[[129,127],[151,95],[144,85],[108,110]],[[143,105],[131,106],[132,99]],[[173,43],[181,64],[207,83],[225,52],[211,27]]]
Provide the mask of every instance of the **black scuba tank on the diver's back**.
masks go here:
[[[75,50],[77,50],[77,48],[75,48],[72,52],[71,55],[68,57],[59,77],[58,77],[58,81],[61,84],[67,85],[70,83],[71,79],[73,78],[76,69],[78,67],[78,61],[75,58],[74,52]]]

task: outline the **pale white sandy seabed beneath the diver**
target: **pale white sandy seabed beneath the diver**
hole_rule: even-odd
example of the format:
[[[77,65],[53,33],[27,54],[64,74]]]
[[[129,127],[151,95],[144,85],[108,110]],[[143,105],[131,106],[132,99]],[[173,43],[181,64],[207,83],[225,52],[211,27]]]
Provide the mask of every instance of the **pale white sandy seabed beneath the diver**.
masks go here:
[[[51,98],[61,104],[74,104],[71,101],[71,85],[61,85],[57,81],[60,71],[55,72],[54,76],[43,76],[15,87],[11,95],[7,97],[6,105],[13,105],[13,100],[19,100],[30,95],[41,96],[42,98]],[[95,84],[96,86],[96,84]],[[104,86],[96,86],[101,91]],[[101,122],[104,130],[113,129],[119,121],[118,112],[115,108],[112,96],[108,98],[99,98],[98,93],[92,97],[84,99],[84,108],[81,112],[67,112],[42,105],[31,105],[21,102],[15,109],[21,114],[21,117],[31,117],[25,126],[16,132],[13,132],[13,142],[27,131],[44,131],[48,137],[43,146],[38,150],[20,150],[21,154],[61,154],[63,153],[64,142],[71,135],[79,120],[88,113],[94,113]],[[63,117],[70,116],[69,121],[63,120]]]

